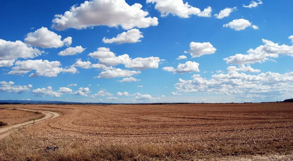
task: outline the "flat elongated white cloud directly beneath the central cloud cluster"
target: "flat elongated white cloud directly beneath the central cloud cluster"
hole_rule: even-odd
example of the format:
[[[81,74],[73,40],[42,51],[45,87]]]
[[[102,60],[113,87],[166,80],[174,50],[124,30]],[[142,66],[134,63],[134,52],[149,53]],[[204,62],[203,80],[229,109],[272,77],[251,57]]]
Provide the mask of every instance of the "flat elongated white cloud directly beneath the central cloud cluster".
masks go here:
[[[124,69],[114,69],[102,71],[96,78],[115,78],[115,77],[130,77],[134,74],[140,74],[141,71],[130,71]]]

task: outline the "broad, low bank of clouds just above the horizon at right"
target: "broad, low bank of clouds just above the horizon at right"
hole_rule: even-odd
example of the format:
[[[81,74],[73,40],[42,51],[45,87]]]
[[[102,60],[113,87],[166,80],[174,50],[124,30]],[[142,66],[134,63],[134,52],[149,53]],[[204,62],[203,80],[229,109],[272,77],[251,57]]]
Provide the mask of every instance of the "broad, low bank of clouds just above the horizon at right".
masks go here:
[[[200,76],[195,76],[192,80],[180,78],[175,88],[180,92],[217,93],[237,97],[250,95],[255,98],[272,96],[275,99],[293,93],[293,72],[280,74],[269,71],[250,75],[229,68],[227,74],[215,74],[212,79]]]

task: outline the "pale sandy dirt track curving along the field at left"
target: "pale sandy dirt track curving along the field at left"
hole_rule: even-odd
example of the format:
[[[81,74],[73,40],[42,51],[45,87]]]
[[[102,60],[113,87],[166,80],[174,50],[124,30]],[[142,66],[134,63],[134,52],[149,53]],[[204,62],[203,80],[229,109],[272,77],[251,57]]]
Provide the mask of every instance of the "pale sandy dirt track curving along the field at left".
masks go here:
[[[7,108],[7,109],[12,109],[12,108]],[[21,108],[17,108],[18,110],[24,110],[24,111],[38,111],[38,112],[42,112],[43,114],[45,114],[45,117],[42,117],[41,119],[37,119],[35,120],[35,124],[36,123],[39,123],[39,122],[42,122],[42,121],[45,121],[47,119],[53,119],[53,118],[56,118],[58,116],[60,116],[60,114],[58,114],[57,112],[51,112],[51,111],[42,111],[42,110],[33,110],[33,109],[21,109]],[[0,139],[3,138],[4,136],[8,135],[8,132],[10,129],[13,129],[13,128],[18,128],[18,127],[22,127],[22,126],[27,126],[27,125],[30,125],[30,124],[33,124],[34,121],[31,120],[31,121],[26,121],[26,122],[23,122],[23,123],[20,123],[20,124],[14,124],[14,125],[11,125],[11,126],[8,126],[8,127],[5,127],[5,128],[0,128]]]

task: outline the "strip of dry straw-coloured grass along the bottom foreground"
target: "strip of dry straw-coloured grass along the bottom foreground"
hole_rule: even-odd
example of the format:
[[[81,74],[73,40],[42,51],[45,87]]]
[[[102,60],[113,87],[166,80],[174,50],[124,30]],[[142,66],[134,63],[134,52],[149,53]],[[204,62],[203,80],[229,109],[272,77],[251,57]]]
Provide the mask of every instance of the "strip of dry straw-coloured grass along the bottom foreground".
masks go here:
[[[229,143],[182,143],[182,144],[145,144],[145,145],[102,145],[85,146],[73,141],[60,142],[55,151],[44,150],[48,143],[28,138],[14,131],[0,141],[0,160],[191,160],[209,159],[217,156],[286,153],[292,150],[292,143],[270,141],[254,146],[229,145]]]

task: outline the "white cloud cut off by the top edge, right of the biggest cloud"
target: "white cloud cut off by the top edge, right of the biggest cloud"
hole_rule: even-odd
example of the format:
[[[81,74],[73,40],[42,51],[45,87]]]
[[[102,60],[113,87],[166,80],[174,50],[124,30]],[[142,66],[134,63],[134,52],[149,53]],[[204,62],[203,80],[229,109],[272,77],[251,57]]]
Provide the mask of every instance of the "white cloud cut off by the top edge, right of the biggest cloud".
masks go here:
[[[183,3],[183,0],[147,0],[147,3],[156,3],[155,9],[160,11],[162,17],[166,17],[170,13],[181,18],[188,18],[190,15],[210,17],[212,12],[211,7],[207,7],[201,12],[199,8],[190,6],[188,2]]]

